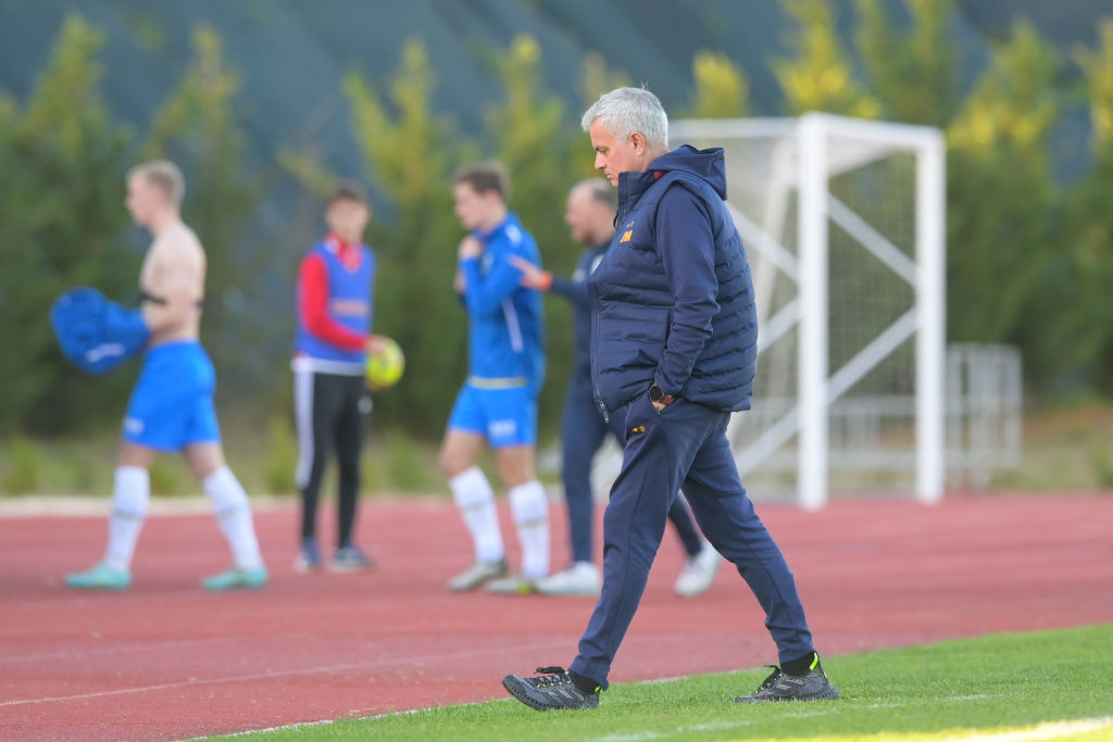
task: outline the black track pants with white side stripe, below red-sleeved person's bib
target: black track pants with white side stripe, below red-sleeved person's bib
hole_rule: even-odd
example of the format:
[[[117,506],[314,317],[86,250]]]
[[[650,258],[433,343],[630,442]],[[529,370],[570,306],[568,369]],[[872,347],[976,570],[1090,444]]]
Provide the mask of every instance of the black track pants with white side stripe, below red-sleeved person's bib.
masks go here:
[[[329,454],[339,464],[337,545],[352,541],[359,497],[363,417],[371,399],[362,376],[313,370],[294,374],[294,408],[301,454],[297,486],[302,491],[302,538],[316,536],[317,502]]]

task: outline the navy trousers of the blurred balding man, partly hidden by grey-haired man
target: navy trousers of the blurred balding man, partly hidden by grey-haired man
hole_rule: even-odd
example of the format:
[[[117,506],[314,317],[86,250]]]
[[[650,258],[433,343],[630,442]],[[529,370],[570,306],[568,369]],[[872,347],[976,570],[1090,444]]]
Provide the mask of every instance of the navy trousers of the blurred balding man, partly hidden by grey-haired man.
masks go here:
[[[591,562],[591,532],[594,502],[591,496],[591,459],[610,432],[621,444],[624,441],[626,410],[610,415],[604,422],[591,389],[591,377],[577,376],[564,397],[561,441],[564,449],[562,476],[568,499],[569,535],[572,561]],[[677,497],[669,508],[669,520],[689,556],[699,553],[702,543],[683,499]]]

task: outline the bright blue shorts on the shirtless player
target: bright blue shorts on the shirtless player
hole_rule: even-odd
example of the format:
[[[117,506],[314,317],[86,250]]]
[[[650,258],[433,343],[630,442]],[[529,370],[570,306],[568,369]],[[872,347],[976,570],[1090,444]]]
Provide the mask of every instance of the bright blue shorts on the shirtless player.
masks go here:
[[[213,394],[216,372],[196,340],[147,352],[124,418],[124,439],[157,451],[191,443],[219,443]]]

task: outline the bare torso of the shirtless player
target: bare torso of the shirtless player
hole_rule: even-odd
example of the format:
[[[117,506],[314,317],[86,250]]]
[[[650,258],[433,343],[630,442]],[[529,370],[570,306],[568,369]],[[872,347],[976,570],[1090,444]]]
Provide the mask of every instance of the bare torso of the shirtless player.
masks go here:
[[[147,248],[139,289],[151,346],[200,337],[205,268],[205,249],[181,221],[164,228]]]

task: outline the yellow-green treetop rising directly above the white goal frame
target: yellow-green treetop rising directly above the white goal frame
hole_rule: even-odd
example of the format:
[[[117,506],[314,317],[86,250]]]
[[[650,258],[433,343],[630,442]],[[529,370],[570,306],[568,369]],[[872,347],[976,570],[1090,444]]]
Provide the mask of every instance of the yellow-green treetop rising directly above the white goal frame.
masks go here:
[[[799,27],[789,39],[796,58],[781,60],[774,69],[789,112],[877,118],[880,103],[854,77],[829,0],[786,0],[785,8]]]

